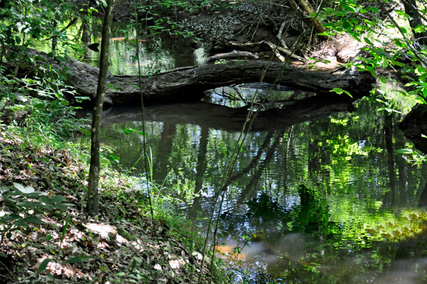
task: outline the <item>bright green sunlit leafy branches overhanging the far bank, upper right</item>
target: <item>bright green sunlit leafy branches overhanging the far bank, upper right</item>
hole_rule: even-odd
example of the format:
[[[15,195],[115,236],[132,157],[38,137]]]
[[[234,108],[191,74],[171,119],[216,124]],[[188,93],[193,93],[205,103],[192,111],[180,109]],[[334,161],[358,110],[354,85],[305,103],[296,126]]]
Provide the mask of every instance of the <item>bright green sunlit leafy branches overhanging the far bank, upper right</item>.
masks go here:
[[[416,1],[407,2],[416,6]],[[323,26],[328,30],[324,35],[347,33],[364,43],[364,54],[350,65],[374,77],[379,68],[399,71],[408,95],[416,95],[418,102],[427,103],[427,46],[423,45],[423,38],[417,38],[426,26],[411,26],[415,15],[409,16],[403,5],[389,1],[339,0],[333,4],[333,8],[323,9],[319,16],[326,21]],[[425,10],[418,12],[418,16],[426,16]]]

